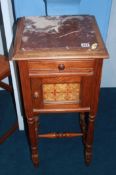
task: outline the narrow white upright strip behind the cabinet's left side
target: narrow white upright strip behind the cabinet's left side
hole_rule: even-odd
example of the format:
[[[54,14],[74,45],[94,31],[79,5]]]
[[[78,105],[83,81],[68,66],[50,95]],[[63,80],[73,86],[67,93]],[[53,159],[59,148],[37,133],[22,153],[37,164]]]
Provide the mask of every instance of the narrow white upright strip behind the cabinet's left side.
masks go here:
[[[6,45],[7,50],[9,51],[12,39],[13,39],[13,13],[12,13],[12,4],[11,0],[0,0],[1,3],[1,10],[3,16],[3,23],[4,23],[4,30],[5,30],[5,37],[6,37]],[[17,71],[15,67],[15,63],[10,61],[10,69],[11,69],[11,77],[12,77],[12,84],[14,89],[14,97],[15,97],[15,105],[16,105],[16,112],[18,117],[19,129],[24,129],[23,124],[23,116],[22,116],[22,108],[21,108],[21,100],[20,94],[18,89],[18,79],[17,79]]]

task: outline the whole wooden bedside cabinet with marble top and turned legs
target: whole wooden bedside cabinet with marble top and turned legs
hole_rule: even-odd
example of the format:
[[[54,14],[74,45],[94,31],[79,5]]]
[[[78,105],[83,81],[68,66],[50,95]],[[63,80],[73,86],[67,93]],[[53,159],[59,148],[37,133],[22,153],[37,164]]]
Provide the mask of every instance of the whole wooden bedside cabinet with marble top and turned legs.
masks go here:
[[[85,161],[91,162],[102,63],[107,57],[93,16],[19,19],[13,60],[19,68],[35,166],[39,163],[38,138],[82,136]],[[40,134],[39,115],[60,112],[79,112],[82,132]]]

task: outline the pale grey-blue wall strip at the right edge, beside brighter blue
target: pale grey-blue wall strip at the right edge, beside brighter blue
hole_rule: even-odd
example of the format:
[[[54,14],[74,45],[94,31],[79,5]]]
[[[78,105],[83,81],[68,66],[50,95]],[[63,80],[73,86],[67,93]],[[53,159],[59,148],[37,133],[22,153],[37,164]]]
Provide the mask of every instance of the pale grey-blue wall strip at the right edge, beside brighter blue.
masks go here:
[[[104,61],[102,87],[116,87],[116,0],[112,1],[107,48],[110,56]]]

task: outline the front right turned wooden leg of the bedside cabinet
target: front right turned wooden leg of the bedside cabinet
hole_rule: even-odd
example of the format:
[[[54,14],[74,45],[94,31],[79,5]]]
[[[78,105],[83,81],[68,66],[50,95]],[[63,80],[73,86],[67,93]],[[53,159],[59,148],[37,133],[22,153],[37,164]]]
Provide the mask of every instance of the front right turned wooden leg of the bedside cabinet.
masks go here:
[[[87,165],[89,165],[91,163],[91,160],[92,160],[94,121],[95,121],[95,115],[90,114],[89,118],[88,118],[88,130],[87,130],[87,137],[86,137],[86,144],[85,144],[85,161],[86,161]]]

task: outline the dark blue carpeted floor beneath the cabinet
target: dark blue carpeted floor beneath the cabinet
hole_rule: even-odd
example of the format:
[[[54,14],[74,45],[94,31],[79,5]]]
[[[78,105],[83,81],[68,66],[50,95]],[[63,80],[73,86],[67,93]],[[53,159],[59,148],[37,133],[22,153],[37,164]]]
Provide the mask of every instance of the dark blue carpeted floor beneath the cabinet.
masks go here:
[[[0,91],[0,135],[15,119],[10,94]],[[41,132],[79,130],[78,114],[47,114],[41,115],[40,120]],[[81,138],[40,139],[39,152],[40,166],[34,168],[25,132],[17,130],[0,145],[0,175],[115,175],[116,88],[101,89],[94,156],[89,167],[84,163]]]

